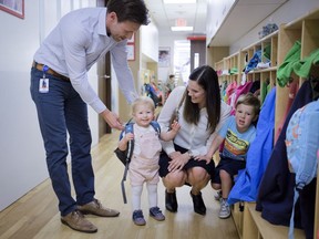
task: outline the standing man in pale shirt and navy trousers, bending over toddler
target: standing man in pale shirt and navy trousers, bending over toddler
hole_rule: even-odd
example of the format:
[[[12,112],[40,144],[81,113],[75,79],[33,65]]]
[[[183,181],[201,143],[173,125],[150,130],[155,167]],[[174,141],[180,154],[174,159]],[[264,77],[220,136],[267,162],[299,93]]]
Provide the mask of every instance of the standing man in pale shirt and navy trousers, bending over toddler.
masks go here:
[[[86,104],[112,128],[123,127],[119,116],[106,108],[91,87],[88,71],[110,52],[119,85],[131,103],[136,92],[126,60],[126,42],[142,24],[148,23],[147,12],[143,0],[110,0],[106,8],[72,11],[61,19],[34,54],[30,90],[37,105],[49,175],[59,199],[61,221],[74,230],[97,231],[84,214],[101,217],[120,214],[104,208],[94,198]],[[68,176],[66,131],[75,199]]]

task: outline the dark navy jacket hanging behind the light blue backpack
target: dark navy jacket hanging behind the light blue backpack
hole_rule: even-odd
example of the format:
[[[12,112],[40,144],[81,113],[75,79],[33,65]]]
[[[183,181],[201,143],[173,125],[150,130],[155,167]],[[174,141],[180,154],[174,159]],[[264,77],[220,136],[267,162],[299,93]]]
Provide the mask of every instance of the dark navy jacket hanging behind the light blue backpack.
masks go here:
[[[274,225],[289,226],[294,204],[295,175],[288,168],[285,144],[287,125],[291,115],[311,101],[311,84],[310,81],[306,81],[292,102],[260,183],[256,209],[261,211],[264,219]],[[311,220],[315,217],[315,195],[316,181],[312,181],[300,193],[295,207],[295,227],[303,228],[307,238],[311,238],[313,233]]]

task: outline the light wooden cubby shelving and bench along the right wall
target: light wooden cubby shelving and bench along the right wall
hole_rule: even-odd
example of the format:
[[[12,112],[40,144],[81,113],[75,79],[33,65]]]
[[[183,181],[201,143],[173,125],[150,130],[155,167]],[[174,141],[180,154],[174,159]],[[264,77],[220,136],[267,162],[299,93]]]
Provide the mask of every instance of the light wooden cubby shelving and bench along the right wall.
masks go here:
[[[239,52],[224,58],[215,64],[215,67],[229,70],[231,66],[238,66],[236,75],[220,76],[219,81],[227,80],[228,83],[237,81],[240,84],[243,70],[247,61],[249,61],[257,50],[263,50],[266,46],[271,48],[270,61],[271,65],[268,69],[253,70],[247,74],[247,81],[260,80],[260,90],[263,91],[264,82],[269,81],[270,87],[276,85],[277,66],[280,65],[286,54],[292,48],[296,41],[301,42],[301,60],[307,58],[312,51],[319,49],[319,9],[301,17],[290,23],[281,24],[279,30],[260,39]],[[312,66],[311,74],[319,75],[319,66]],[[299,87],[306,79],[297,76],[295,73],[290,75],[294,81],[299,83]],[[288,105],[289,87],[277,86],[276,91],[276,112],[275,112],[275,128],[278,128],[285,117],[286,107]],[[318,169],[319,175],[319,169]],[[244,207],[243,207],[244,204]],[[241,239],[261,239],[261,238],[288,238],[288,227],[276,226],[264,220],[260,212],[255,210],[255,202],[241,202],[233,205],[231,216]],[[319,179],[317,177],[317,195],[315,210],[315,230],[313,238],[319,236]],[[305,238],[303,230],[295,229],[295,238]]]

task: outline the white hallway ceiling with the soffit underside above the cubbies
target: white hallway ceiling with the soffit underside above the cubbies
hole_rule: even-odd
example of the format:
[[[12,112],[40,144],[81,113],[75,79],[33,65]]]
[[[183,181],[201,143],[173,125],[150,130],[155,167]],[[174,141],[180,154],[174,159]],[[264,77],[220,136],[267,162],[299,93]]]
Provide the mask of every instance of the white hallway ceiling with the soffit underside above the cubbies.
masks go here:
[[[197,0],[194,4],[164,4],[163,0],[145,0],[153,21],[161,35],[174,34],[176,38],[206,34],[206,12],[208,0]],[[224,0],[220,0],[224,1]],[[287,0],[236,0],[222,27],[209,45],[229,45],[240,39],[254,27],[265,20]],[[213,2],[210,0],[210,2]],[[218,2],[215,0],[215,2]],[[185,19],[193,25],[193,32],[172,32],[177,19]]]

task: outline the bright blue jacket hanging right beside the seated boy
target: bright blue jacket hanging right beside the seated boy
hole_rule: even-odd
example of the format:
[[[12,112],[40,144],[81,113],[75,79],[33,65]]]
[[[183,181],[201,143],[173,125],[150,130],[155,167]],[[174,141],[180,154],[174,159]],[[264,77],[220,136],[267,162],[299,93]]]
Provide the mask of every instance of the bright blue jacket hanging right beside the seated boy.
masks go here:
[[[259,184],[272,149],[276,87],[267,95],[257,123],[256,139],[247,153],[246,168],[237,176],[228,204],[256,201]]]

